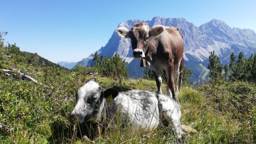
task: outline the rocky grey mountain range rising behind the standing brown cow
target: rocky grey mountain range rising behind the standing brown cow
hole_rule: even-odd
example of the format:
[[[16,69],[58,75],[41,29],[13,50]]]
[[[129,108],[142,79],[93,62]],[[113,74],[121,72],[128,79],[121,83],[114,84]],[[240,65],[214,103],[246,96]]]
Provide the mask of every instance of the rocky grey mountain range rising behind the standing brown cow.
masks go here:
[[[139,19],[131,19],[120,23],[118,27],[131,29],[134,23],[137,22],[141,21]],[[231,28],[224,21],[218,19],[212,19],[199,27],[184,18],[155,17],[144,22],[149,27],[165,25],[181,29],[185,45],[185,66],[192,69],[192,78],[194,80],[207,77],[209,73],[207,69],[208,58],[212,51],[215,51],[220,56],[223,64],[229,62],[231,52],[238,55],[242,51],[246,57],[250,56],[251,53],[256,53],[256,34],[253,30]],[[113,32],[109,42],[105,47],[101,47],[98,53],[105,56],[113,56],[114,53],[118,53],[122,58],[125,58],[130,77],[139,78],[144,76],[144,68],[139,65],[140,60],[133,58],[130,40],[120,38],[116,32]],[[91,54],[77,64],[90,66],[93,56],[94,54]]]

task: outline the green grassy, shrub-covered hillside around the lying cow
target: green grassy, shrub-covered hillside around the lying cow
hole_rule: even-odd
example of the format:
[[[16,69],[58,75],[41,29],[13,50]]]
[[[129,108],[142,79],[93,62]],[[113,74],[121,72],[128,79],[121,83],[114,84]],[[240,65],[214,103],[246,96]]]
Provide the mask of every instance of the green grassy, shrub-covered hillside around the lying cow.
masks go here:
[[[6,73],[3,69],[16,69]],[[22,77],[25,73],[38,81]],[[205,75],[205,74],[201,74]],[[0,43],[0,143],[82,143],[73,133],[68,115],[75,106],[77,89],[89,77],[53,64],[37,54]],[[156,91],[155,81],[117,80],[97,76],[103,88]],[[198,130],[184,143],[255,143],[256,85],[248,82],[207,84],[196,90],[183,85],[179,94],[181,123]],[[164,84],[164,93],[166,85]],[[132,126],[113,129],[96,143],[175,143],[171,126],[142,135]]]

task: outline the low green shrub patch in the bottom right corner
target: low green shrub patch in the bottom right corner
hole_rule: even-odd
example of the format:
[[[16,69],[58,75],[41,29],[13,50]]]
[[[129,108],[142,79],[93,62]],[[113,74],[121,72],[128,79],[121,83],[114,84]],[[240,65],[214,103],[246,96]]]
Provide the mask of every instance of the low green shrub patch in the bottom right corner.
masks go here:
[[[250,82],[222,82],[202,86],[214,113],[220,114],[225,121],[237,121],[237,130],[231,142],[253,143],[255,140],[256,85]]]

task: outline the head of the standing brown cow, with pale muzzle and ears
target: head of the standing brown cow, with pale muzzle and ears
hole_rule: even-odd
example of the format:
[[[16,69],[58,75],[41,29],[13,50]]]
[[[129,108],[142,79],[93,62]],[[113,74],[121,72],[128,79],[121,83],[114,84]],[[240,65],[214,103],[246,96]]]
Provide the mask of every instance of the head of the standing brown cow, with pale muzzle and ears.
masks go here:
[[[134,58],[144,58],[147,48],[147,41],[151,36],[159,36],[164,31],[162,25],[157,25],[149,30],[147,23],[135,23],[131,31],[124,27],[116,29],[116,33],[122,38],[131,38]]]

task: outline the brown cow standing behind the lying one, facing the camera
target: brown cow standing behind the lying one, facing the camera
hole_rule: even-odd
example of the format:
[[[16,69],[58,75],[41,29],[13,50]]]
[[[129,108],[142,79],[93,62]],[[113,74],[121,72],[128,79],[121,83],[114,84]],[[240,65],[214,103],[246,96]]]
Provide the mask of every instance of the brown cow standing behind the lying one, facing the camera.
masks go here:
[[[155,75],[160,93],[162,78],[160,71],[166,71],[168,92],[177,101],[179,78],[183,69],[183,37],[177,27],[157,25],[149,30],[147,23],[135,23],[131,31],[124,27],[116,29],[122,38],[131,38],[134,58],[146,60],[146,65]]]

